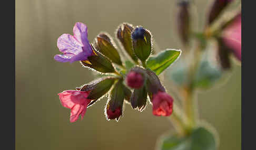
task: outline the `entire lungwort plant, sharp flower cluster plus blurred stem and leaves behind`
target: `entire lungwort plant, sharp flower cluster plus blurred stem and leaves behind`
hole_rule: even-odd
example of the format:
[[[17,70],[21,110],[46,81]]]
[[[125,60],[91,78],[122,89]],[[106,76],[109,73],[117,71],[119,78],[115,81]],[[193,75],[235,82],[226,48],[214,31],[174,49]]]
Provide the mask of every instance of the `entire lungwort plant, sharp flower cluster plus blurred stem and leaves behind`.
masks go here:
[[[220,19],[231,2],[215,0],[202,31],[194,31],[191,25],[191,3],[179,2],[177,23],[184,44],[182,55],[181,50],[175,49],[152,55],[152,34],[142,26],[121,24],[115,33],[119,49],[107,33],[88,41],[87,26],[76,23],[73,35],[63,34],[57,39],[62,54],[55,55],[54,59],[70,63],[80,61],[83,67],[100,76],[81,87],[58,93],[61,104],[71,109],[70,122],[80,116],[83,119],[87,108],[105,96],[108,98],[104,109],[107,120],[119,121],[124,114],[124,104],[139,111],[152,104],[153,115],[168,116],[176,129],[160,138],[157,148],[218,148],[218,134],[210,125],[202,125],[198,118],[194,95],[196,89],[209,89],[220,80],[231,69],[233,56],[241,61],[241,10]],[[216,20],[220,21],[216,23]],[[167,72],[179,91],[182,105],[174,104],[159,79],[176,60]]]

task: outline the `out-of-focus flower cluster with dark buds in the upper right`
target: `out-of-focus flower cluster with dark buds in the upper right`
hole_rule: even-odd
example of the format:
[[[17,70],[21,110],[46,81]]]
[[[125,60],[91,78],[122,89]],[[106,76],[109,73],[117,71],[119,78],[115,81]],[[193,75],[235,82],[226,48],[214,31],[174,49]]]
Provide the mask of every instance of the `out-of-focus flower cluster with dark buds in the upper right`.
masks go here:
[[[218,43],[218,60],[222,69],[231,68],[230,56],[234,56],[241,62],[241,12],[237,12],[228,22],[221,22],[216,26],[216,22],[223,16],[233,0],[215,0],[210,8],[207,17],[206,27],[203,33],[191,31],[190,1],[180,0],[180,12],[178,16],[179,35],[184,45],[188,45],[189,38],[194,37],[201,40],[201,45],[207,45],[208,39],[213,38]],[[217,22],[218,23],[218,22]],[[213,27],[217,29],[213,29]],[[205,48],[202,48],[205,49]]]

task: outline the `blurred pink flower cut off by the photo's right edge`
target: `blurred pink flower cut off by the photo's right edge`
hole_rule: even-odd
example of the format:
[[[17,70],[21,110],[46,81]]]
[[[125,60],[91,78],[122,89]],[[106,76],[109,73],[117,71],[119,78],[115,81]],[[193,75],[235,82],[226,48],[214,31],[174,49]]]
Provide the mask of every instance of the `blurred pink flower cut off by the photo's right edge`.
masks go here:
[[[234,56],[241,61],[241,14],[223,31],[225,45],[233,50]]]

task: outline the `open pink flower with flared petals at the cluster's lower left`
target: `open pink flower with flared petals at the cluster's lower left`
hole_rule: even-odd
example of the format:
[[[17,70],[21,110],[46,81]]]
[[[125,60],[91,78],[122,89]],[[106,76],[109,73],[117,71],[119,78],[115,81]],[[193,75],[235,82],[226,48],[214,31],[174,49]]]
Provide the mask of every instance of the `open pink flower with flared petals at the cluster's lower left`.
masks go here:
[[[77,91],[77,90],[65,90],[62,93],[58,93],[61,100],[61,104],[68,109],[71,109],[70,122],[77,121],[81,114],[83,119],[87,109],[87,105],[91,102],[87,99],[89,92]]]

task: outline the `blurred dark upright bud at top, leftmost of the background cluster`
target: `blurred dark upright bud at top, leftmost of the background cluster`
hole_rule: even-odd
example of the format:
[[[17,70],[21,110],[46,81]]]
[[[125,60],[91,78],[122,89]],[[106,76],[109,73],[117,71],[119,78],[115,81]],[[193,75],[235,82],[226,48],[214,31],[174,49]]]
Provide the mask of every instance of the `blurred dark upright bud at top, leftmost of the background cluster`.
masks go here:
[[[180,10],[178,14],[178,31],[183,44],[188,44],[190,32],[190,14],[189,14],[189,1],[182,0],[179,3]]]

